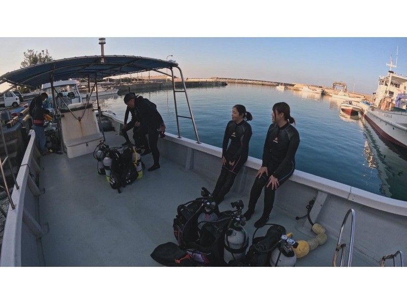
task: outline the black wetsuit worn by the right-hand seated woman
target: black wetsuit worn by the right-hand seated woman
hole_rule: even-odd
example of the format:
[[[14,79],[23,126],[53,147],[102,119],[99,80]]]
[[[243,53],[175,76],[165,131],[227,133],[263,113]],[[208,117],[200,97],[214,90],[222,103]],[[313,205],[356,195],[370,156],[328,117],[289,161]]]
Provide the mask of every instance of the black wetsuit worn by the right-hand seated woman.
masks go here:
[[[279,187],[286,181],[295,169],[295,154],[300,143],[300,135],[297,129],[286,123],[279,128],[277,124],[272,124],[267,132],[266,142],[263,149],[262,167],[267,167],[269,175],[266,173],[260,178],[255,178],[250,192],[249,210],[252,214],[261,190],[265,189],[263,217],[268,218],[273,208],[275,190],[272,190],[268,184],[269,177],[273,175],[277,178]]]

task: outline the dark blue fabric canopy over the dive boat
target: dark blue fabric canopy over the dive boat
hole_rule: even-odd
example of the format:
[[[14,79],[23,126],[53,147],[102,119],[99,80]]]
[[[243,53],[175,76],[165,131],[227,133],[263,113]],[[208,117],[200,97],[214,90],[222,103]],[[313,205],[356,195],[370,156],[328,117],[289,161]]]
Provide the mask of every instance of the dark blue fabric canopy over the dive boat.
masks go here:
[[[0,81],[13,85],[36,87],[51,82],[52,73],[54,81],[88,76],[94,79],[95,77],[102,78],[159,69],[171,69],[177,66],[178,64],[172,61],[168,62],[139,56],[83,56],[52,60],[47,63],[8,72],[0,76]]]

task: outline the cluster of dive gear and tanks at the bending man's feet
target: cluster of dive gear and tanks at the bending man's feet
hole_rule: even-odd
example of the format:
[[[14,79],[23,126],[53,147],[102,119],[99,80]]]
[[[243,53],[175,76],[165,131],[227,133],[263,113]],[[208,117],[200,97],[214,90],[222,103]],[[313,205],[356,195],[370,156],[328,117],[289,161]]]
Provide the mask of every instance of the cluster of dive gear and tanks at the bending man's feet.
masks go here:
[[[109,147],[101,141],[93,156],[98,161],[98,173],[106,175],[110,187],[121,193],[120,188],[143,176],[145,166],[139,152],[133,145]]]

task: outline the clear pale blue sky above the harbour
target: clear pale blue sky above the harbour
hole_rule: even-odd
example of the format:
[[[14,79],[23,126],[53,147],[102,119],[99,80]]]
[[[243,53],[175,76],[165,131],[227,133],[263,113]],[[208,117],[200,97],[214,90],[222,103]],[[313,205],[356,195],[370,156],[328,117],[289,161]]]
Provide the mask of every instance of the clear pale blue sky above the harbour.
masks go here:
[[[0,38],[0,74],[18,69],[26,49],[54,59],[100,54],[98,38]],[[165,59],[172,54],[185,77],[231,77],[331,85],[370,94],[387,73],[390,54],[407,74],[407,38],[108,38],[105,54]],[[2,87],[3,88],[3,87]]]

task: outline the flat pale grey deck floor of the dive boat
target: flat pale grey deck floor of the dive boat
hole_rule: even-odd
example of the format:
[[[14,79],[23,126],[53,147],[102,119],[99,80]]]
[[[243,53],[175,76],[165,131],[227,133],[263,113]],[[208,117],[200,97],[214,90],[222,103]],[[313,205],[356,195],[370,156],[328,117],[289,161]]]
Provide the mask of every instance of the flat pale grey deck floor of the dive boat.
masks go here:
[[[123,142],[115,132],[105,134],[110,146]],[[152,165],[151,155],[142,160],[147,168]],[[46,266],[158,266],[150,254],[164,242],[176,242],[172,220],[177,206],[199,197],[201,187],[212,190],[216,183],[162,158],[159,170],[145,170],[141,179],[119,194],[105,176],[98,175],[96,163],[92,154],[41,158],[40,188],[45,188],[45,194],[39,199],[40,221],[49,223],[49,233],[42,237]],[[220,210],[230,209],[229,202],[237,199],[247,205],[248,194],[229,193]],[[245,226],[250,239],[263,211],[262,200],[263,196]],[[309,239],[296,229],[294,218],[278,209],[273,209],[269,222],[283,225],[297,240]],[[336,241],[329,237],[326,244],[299,259],[297,266],[330,266]],[[355,251],[352,264],[374,266]]]

